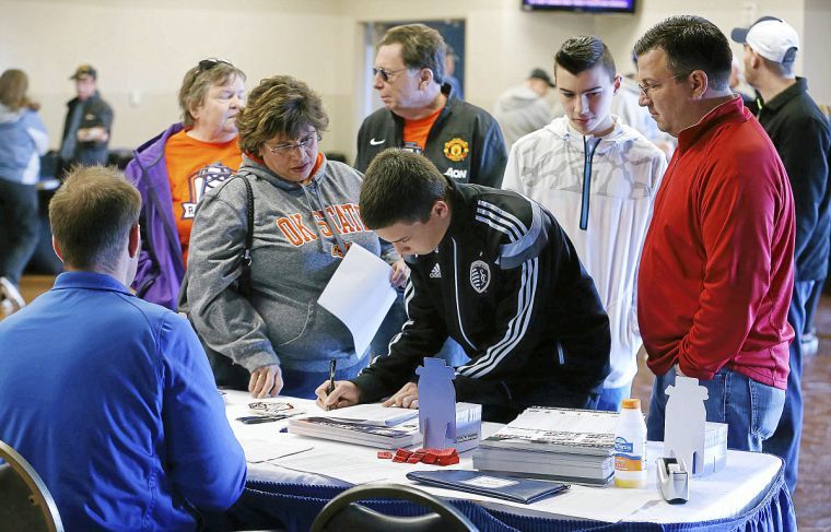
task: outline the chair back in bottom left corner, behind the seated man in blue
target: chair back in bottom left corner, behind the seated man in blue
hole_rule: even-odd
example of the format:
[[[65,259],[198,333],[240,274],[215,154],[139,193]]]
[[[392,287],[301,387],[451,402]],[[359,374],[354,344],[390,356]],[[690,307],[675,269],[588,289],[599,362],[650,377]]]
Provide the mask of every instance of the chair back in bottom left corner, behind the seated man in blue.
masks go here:
[[[0,459],[0,531],[62,532],[55,499],[26,459],[4,441]]]

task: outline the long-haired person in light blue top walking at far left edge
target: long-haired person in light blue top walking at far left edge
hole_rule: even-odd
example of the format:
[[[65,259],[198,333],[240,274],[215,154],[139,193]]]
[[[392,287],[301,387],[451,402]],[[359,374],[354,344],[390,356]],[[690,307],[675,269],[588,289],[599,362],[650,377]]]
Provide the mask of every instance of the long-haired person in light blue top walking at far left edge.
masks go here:
[[[28,78],[22,70],[0,75],[0,315],[26,305],[20,277],[38,238],[35,184],[49,138],[37,114],[40,106],[27,91]]]

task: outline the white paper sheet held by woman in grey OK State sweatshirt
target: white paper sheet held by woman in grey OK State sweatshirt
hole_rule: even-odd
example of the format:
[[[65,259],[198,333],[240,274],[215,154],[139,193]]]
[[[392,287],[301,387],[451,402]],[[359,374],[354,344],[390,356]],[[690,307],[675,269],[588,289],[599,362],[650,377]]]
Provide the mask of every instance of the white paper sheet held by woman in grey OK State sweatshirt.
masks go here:
[[[363,356],[396,291],[389,284],[393,269],[383,259],[352,243],[317,303],[335,315],[352,333],[355,353]]]

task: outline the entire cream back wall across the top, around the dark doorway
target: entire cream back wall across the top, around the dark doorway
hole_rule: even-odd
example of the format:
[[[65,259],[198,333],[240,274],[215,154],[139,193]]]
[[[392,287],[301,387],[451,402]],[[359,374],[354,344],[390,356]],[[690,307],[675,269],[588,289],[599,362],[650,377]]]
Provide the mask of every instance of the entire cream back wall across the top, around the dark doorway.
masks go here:
[[[831,102],[824,67],[828,0],[698,0],[695,14],[728,33],[756,16],[783,16],[803,36],[797,71],[815,95]],[[634,15],[523,12],[518,0],[0,0],[0,70],[22,68],[43,104],[51,145],[60,143],[69,75],[83,62],[100,71],[114,106],[113,147],[132,147],[178,119],[176,93],[185,71],[204,57],[229,59],[248,74],[247,88],[276,73],[308,82],[324,97],[331,131],[327,150],[354,156],[363,118],[363,23],[465,19],[466,96],[490,109],[504,88],[532,67],[551,68],[560,44],[595,34],[613,50],[621,71],[641,34],[687,0],[639,0]],[[735,48],[739,51],[739,47]],[[130,95],[140,98],[130,105]]]

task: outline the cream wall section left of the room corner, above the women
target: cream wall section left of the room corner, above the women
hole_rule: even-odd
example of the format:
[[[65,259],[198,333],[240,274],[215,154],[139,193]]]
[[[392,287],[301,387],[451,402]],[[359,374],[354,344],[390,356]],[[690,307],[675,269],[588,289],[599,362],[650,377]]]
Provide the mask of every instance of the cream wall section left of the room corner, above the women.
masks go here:
[[[338,102],[342,26],[332,8],[339,2],[0,0],[0,68],[30,74],[57,146],[66,102],[74,95],[68,78],[78,64],[92,63],[115,110],[110,146],[132,147],[178,119],[182,78],[206,57],[238,66],[248,75],[247,88],[288,73],[308,82],[327,103]],[[133,92],[141,101],[134,107]]]

